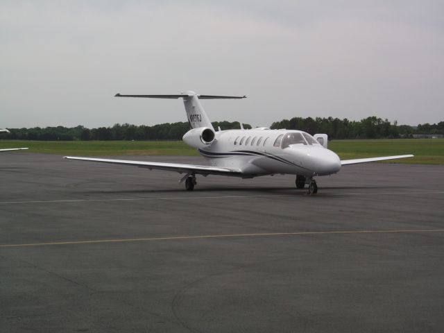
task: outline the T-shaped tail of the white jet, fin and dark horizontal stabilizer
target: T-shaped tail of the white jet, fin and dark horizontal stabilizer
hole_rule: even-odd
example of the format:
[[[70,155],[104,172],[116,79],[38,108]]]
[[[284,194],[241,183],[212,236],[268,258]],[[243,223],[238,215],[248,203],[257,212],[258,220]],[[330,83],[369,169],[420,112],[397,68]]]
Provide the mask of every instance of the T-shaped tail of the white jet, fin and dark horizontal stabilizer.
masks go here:
[[[214,96],[214,95],[198,95],[195,92],[182,92],[178,95],[121,95],[116,94],[116,97],[142,97],[148,99],[183,99],[185,110],[187,111],[187,118],[191,128],[214,128],[210,119],[199,99],[245,99],[246,96]]]

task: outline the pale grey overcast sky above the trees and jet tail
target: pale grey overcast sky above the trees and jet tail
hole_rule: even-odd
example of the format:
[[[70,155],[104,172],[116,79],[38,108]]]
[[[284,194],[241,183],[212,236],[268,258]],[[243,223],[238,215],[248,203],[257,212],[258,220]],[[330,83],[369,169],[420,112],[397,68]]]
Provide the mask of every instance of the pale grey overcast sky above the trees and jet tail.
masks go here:
[[[444,120],[444,1],[0,0],[0,128]]]

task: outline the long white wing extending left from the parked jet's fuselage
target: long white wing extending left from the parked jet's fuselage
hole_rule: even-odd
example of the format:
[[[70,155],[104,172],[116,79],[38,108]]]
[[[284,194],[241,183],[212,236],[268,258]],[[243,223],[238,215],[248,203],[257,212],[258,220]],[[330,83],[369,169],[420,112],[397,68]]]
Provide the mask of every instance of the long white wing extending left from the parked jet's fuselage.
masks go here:
[[[89,158],[89,157],[72,157],[72,156],[65,156],[65,158],[67,158],[68,160],[81,160],[89,162],[131,165],[133,167],[146,168],[150,170],[176,171],[178,173],[197,173],[204,176],[206,175],[242,176],[242,173],[239,169],[218,168],[206,165],[128,161],[128,160],[108,160],[106,158]]]

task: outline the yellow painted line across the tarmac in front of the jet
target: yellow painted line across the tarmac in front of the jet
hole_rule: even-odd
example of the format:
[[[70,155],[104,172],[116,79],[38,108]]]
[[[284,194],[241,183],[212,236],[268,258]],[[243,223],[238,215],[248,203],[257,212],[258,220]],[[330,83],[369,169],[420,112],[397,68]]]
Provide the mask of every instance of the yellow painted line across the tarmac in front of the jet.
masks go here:
[[[384,234],[384,233],[420,233],[420,232],[444,232],[444,229],[426,230],[349,230],[349,231],[302,231],[302,232],[270,232],[255,234],[207,234],[202,236],[178,236],[178,237],[153,237],[153,238],[129,238],[129,239],[92,239],[85,241],[52,241],[48,243],[29,244],[0,244],[0,248],[24,248],[27,246],[50,246],[50,245],[76,245],[76,244],[99,244],[99,243],[124,243],[133,241],[173,241],[180,239],[209,239],[228,237],[272,237],[272,236],[303,236],[307,234]]]

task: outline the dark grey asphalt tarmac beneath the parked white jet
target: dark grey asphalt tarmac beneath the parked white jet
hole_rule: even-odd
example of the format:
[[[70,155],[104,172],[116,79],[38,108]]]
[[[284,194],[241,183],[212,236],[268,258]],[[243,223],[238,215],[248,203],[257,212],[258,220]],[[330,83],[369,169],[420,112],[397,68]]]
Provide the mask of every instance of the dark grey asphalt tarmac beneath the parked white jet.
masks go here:
[[[0,332],[444,332],[443,166],[180,177],[1,153]]]

